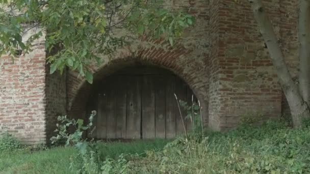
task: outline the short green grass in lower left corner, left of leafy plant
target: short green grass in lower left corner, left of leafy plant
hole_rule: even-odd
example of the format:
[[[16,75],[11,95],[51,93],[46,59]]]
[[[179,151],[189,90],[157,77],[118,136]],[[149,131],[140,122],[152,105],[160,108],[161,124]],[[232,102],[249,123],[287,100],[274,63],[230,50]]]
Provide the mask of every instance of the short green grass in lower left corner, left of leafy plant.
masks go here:
[[[69,169],[73,148],[53,148],[31,153],[28,150],[2,153],[0,173],[72,173]]]

